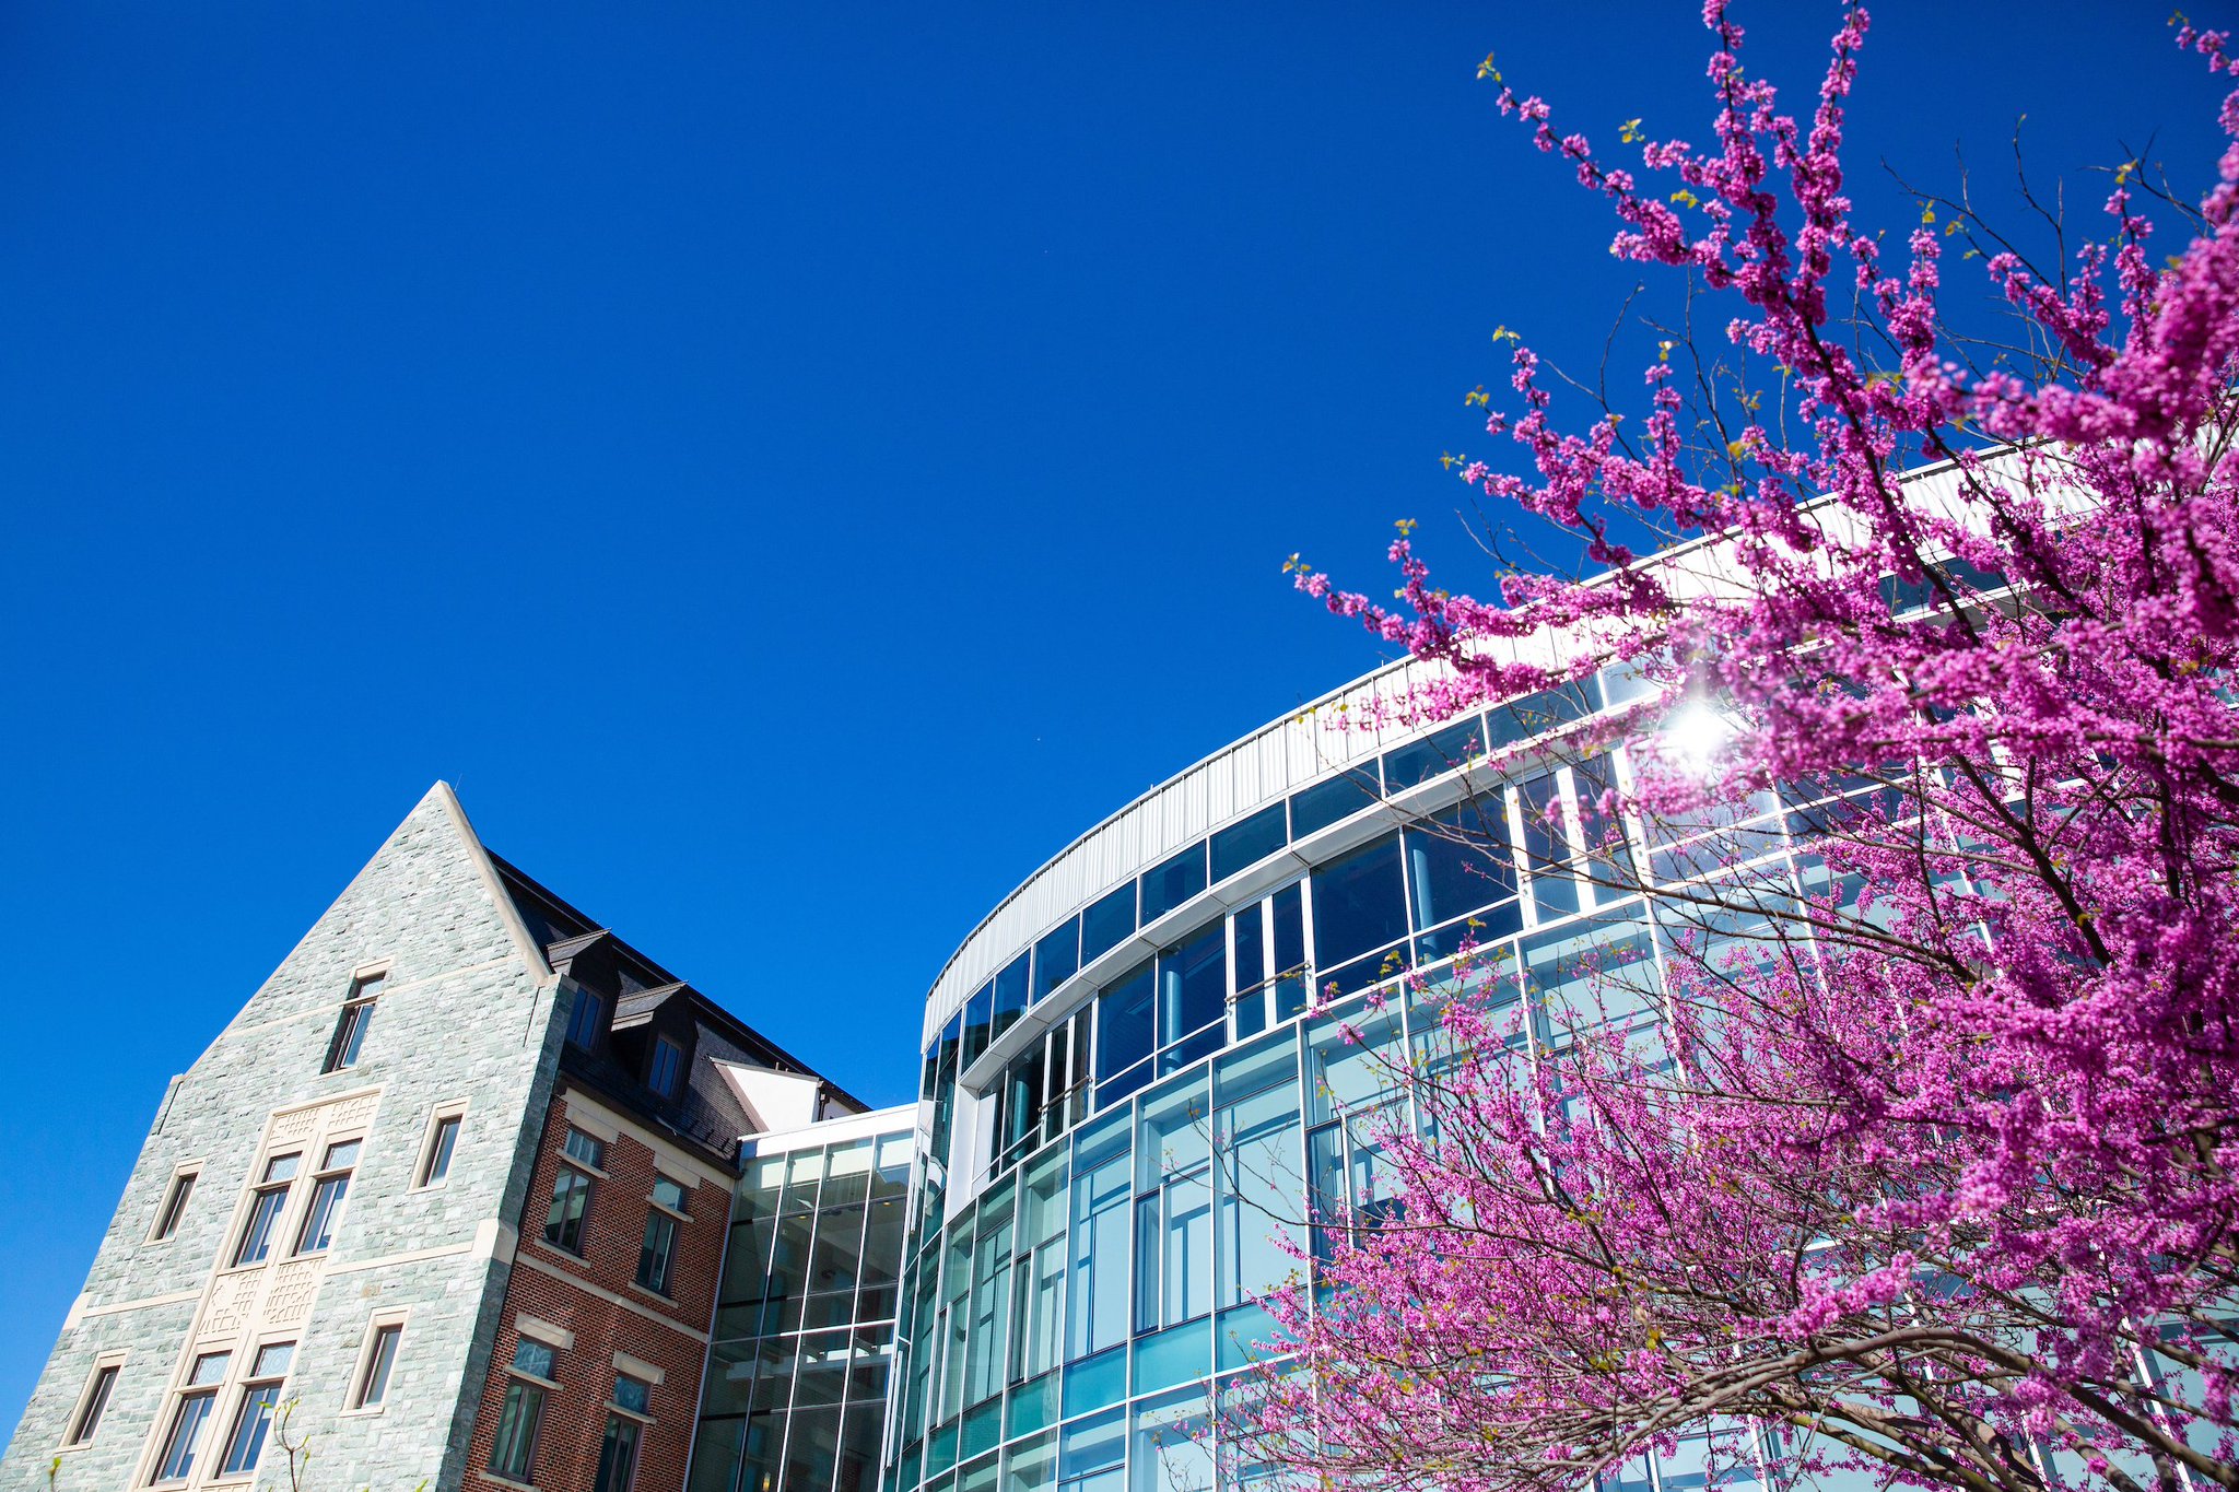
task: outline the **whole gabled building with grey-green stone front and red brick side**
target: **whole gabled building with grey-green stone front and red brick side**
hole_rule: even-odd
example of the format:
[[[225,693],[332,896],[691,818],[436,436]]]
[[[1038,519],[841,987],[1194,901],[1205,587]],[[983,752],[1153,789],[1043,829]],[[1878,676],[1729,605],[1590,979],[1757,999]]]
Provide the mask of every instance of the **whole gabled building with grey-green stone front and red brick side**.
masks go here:
[[[0,1485],[676,1488],[741,1136],[860,1109],[439,783],[172,1078]]]

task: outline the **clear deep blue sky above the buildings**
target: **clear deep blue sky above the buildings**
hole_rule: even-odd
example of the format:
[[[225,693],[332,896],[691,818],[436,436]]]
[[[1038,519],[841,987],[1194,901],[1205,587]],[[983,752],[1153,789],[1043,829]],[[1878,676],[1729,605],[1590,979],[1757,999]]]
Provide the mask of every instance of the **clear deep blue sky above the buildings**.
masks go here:
[[[1377,662],[1285,555],[1471,579],[1491,329],[1590,367],[1630,282],[1473,67],[1704,139],[1695,9],[0,9],[0,1423],[163,1080],[437,776],[902,1098],[983,910]],[[2091,224],[2118,141],[2212,168],[2158,9],[1876,11],[1861,166],[2004,179],[2029,112]],[[1744,18],[1807,105],[1834,7]]]

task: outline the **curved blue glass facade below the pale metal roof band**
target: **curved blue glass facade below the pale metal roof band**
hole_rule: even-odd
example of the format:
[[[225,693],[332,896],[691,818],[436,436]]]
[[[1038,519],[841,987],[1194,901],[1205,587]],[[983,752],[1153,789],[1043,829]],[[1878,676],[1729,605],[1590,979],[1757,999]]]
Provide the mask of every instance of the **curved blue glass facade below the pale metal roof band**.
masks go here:
[[[1634,691],[1605,671],[1247,805],[1095,888],[940,1027],[887,1488],[1249,1481],[1249,1467],[1216,1476],[1222,1447],[1200,1432],[1270,1333],[1254,1300],[1310,1268],[1292,1253],[1314,1255],[1303,1219],[1379,1199],[1373,1136],[1408,1103],[1393,1063],[1426,1054],[1437,973],[1462,939],[1500,969],[1496,1000],[1529,1013],[1523,1040],[1563,1040],[1549,1009],[1661,1018],[1664,939],[1679,928],[1614,886],[1731,863],[1697,866],[1688,837],[1639,825],[1608,848],[1594,814],[1626,781],[1623,749],[1529,752]],[[1471,767],[1489,752],[1500,772]],[[1784,859],[1787,816],[1767,796],[1699,830],[1720,861],[1737,830]],[[1590,846],[1623,866],[1594,875]],[[1408,971],[1428,993],[1370,1011],[1366,991]]]

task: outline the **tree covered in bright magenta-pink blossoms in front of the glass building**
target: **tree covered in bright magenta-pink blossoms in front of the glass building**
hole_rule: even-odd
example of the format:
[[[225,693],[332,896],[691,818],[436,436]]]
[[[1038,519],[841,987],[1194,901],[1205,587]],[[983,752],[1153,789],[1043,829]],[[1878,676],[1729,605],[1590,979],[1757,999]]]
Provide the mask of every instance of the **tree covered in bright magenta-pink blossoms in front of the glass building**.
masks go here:
[[[1442,664],[1384,700],[1408,723],[1612,662],[1652,684],[1563,749],[1632,763],[1578,808],[1594,879],[1670,931],[1659,1020],[1612,1016],[1634,971],[1552,1013],[1491,957],[1417,978],[1417,1123],[1379,1136],[1386,1194],[1321,1219],[1323,1288],[1270,1302],[1296,1353],[1231,1429],[1458,1492],[1702,1434],[1713,1481],[2239,1488],[2239,143],[2196,208],[2118,172],[2064,264],[1961,199],[1899,268],[1843,195],[1865,11],[1809,123],[1706,22],[1715,141],[1628,125],[1641,174],[1484,69],[1612,251],[1731,318],[1657,349],[1637,425],[1561,429],[1523,344],[1514,412],[1482,398],[1529,474],[1467,481],[1603,573],[1480,602],[1404,532],[1397,606],[1299,568]],[[2156,217],[2185,237],[2158,266]],[[1948,327],[1946,244],[2008,356]],[[1688,830],[1686,875],[1632,850]]]

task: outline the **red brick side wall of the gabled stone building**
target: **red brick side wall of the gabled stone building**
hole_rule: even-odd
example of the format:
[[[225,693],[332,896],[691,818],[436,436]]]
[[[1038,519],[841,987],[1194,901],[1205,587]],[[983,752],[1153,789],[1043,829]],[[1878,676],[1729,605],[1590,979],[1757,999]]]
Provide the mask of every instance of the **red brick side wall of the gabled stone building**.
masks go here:
[[[598,1476],[598,1449],[607,1434],[607,1403],[613,1394],[613,1353],[625,1351],[658,1367],[665,1378],[654,1385],[647,1414],[654,1418],[638,1443],[638,1476],[634,1492],[681,1492],[685,1456],[692,1447],[692,1420],[699,1414],[701,1367],[708,1344],[708,1318],[714,1311],[716,1275],[723,1262],[723,1230],[730,1224],[730,1197],[705,1181],[685,1192],[692,1219],[676,1226],[676,1257],[669,1271],[672,1302],[638,1288],[638,1248],[645,1241],[647,1197],[654,1190],[654,1150],[625,1125],[620,1139],[607,1143],[607,1174],[591,1181],[591,1210],[584,1217],[582,1257],[544,1241],[544,1215],[551,1206],[560,1154],[566,1143],[566,1109],[562,1092],[553,1096],[537,1152],[535,1181],[519,1219],[522,1237],[506,1284],[506,1313],[490,1353],[490,1378],[481,1391],[475,1420],[475,1443],[468,1456],[468,1488],[499,1492],[504,1483],[486,1474],[497,1418],[506,1403],[506,1369],[519,1344],[515,1320],[537,1320],[575,1333],[575,1347],[558,1353],[553,1369],[558,1394],[546,1394],[542,1432],[537,1436],[531,1479],[540,1490],[589,1492]],[[669,1179],[683,1181],[674,1170]],[[533,1262],[533,1264],[531,1264]],[[555,1279],[535,1268],[546,1264],[566,1275]],[[578,1282],[620,1295],[663,1320],[605,1300]],[[685,1326],[678,1331],[672,1324]]]

